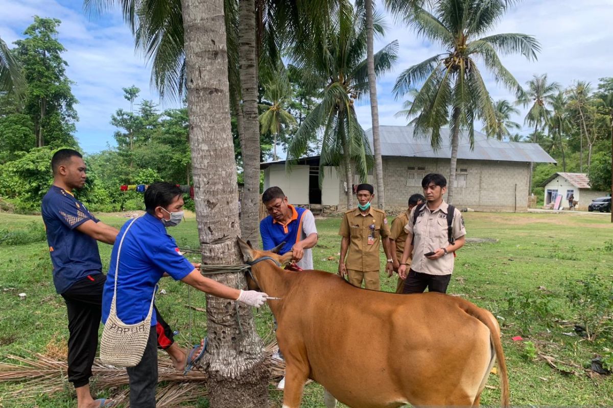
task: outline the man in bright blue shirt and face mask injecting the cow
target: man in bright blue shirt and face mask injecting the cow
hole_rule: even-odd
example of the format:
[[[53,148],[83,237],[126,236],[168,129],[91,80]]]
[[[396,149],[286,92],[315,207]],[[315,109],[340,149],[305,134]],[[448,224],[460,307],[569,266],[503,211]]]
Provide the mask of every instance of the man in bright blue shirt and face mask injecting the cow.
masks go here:
[[[109,278],[102,295],[103,323],[109,317],[116,276],[116,313],[125,324],[142,322],[147,317],[156,285],[162,276],[172,276],[200,291],[224,299],[238,300],[249,306],[259,307],[265,302],[268,296],[265,293],[239,291],[205,278],[197,265],[191,264],[181,254],[173,237],[166,232],[167,226],[175,226],[183,218],[183,193],[179,187],[169,183],[151,184],[145,191],[145,209],[147,213],[143,217],[124,224],[113,247]],[[122,239],[121,253],[118,253]],[[155,325],[156,317],[152,315],[145,352],[138,365],[128,368],[132,408],[156,406],[158,353]]]

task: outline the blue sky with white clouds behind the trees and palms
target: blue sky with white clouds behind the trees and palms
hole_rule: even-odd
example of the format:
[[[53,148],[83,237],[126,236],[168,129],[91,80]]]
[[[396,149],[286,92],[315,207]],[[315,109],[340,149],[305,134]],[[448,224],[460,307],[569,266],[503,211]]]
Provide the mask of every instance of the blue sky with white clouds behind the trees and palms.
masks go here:
[[[379,0],[380,2],[380,0]],[[0,0],[0,38],[7,43],[22,37],[33,16],[55,17],[62,20],[59,40],[66,47],[64,59],[69,64],[67,75],[75,85],[80,121],[77,138],[87,153],[113,146],[115,128],[110,116],[118,108],[129,108],[122,87],[140,87],[139,98],[152,99],[160,108],[177,106],[173,101],[160,101],[150,86],[150,67],[140,53],[134,51],[134,40],[118,12],[89,18],[82,1],[68,0]],[[380,6],[380,4],[379,4]],[[379,10],[383,10],[379,7]],[[550,81],[568,86],[576,80],[589,81],[594,86],[598,78],[613,76],[612,0],[525,0],[510,10],[495,32],[522,32],[535,35],[541,42],[538,61],[528,62],[521,56],[502,57],[503,64],[525,84],[533,74],[547,73]],[[440,53],[436,46],[416,37],[414,33],[387,16],[387,32],[375,42],[375,50],[392,40],[400,43],[398,62],[392,72],[378,80],[379,122],[381,125],[403,125],[405,119],[394,114],[402,109],[402,100],[395,100],[392,87],[398,73],[425,58]],[[511,93],[487,77],[494,99],[508,98]],[[364,128],[371,124],[370,105],[357,106],[359,121]],[[516,118],[523,123],[524,109]],[[478,127],[480,128],[480,127]],[[530,129],[522,128],[527,135]]]

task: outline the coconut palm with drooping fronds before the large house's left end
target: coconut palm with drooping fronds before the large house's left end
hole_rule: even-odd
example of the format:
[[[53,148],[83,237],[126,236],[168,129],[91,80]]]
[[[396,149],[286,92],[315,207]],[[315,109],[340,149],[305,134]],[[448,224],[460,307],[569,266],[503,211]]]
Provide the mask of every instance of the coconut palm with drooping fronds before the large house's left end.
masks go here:
[[[351,185],[353,170],[367,180],[372,154],[364,129],[357,121],[354,103],[368,91],[366,21],[360,8],[344,5],[339,22],[321,43],[296,46],[293,61],[302,72],[303,86],[319,89],[319,105],[304,119],[287,149],[287,167],[304,154],[307,143],[318,132],[322,135],[319,181],[324,166],[340,166],[345,171],[347,206],[353,207]],[[381,17],[375,16],[373,29],[383,35]],[[392,67],[398,50],[394,41],[375,53],[375,73],[381,75]]]

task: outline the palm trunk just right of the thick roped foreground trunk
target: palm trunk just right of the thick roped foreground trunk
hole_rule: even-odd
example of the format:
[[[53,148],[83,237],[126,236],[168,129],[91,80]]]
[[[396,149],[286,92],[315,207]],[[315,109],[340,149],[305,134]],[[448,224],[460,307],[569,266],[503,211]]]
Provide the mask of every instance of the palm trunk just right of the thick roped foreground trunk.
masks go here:
[[[260,127],[257,114],[256,4],[238,4],[238,70],[243,97],[242,144],[245,189],[240,213],[240,234],[244,240],[258,239],[260,200]]]

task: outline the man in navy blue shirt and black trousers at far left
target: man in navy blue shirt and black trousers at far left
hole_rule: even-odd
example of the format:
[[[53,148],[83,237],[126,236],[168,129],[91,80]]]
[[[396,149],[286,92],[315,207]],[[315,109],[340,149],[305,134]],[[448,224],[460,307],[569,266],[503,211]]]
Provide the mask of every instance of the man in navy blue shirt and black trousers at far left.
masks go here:
[[[106,279],[96,241],[112,244],[118,231],[97,220],[73,195],[87,177],[79,152],[58,150],[51,158],[51,169],[53,185],[42,200],[42,218],[53,262],[53,284],[68,310],[68,380],[77,391],[78,408],[109,406],[104,399],[92,398],[89,377]]]

